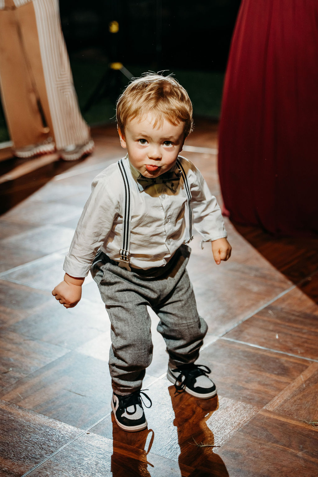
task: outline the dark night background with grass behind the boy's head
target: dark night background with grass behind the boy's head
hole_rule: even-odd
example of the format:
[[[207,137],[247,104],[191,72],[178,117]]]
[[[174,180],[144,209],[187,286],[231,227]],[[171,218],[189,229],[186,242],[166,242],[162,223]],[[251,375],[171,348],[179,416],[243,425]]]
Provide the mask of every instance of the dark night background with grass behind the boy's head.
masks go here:
[[[113,120],[115,100],[129,81],[122,73],[109,74],[108,64],[114,61],[122,62],[133,76],[174,73],[187,89],[195,115],[217,119],[239,4],[240,0],[95,0],[89,5],[87,0],[61,1],[62,30],[86,121],[93,125]],[[119,22],[117,33],[109,32],[113,20]],[[99,97],[84,111],[93,92]],[[0,141],[8,138],[0,110]]]

